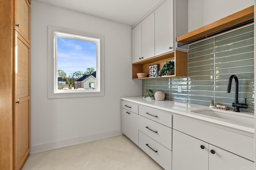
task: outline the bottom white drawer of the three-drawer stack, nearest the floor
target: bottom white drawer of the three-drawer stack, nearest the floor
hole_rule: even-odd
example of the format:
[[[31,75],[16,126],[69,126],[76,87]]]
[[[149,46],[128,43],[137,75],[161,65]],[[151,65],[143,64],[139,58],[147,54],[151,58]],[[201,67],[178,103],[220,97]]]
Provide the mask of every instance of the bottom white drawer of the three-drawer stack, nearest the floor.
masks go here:
[[[139,147],[166,170],[172,169],[172,151],[139,131]]]

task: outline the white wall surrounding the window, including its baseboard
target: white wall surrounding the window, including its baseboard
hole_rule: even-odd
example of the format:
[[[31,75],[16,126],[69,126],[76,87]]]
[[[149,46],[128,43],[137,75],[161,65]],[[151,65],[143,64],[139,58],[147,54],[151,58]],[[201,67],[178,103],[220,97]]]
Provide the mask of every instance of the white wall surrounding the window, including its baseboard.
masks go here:
[[[48,99],[47,26],[105,36],[105,96]],[[120,97],[141,96],[132,80],[131,26],[32,1],[31,150],[83,143],[120,131]]]

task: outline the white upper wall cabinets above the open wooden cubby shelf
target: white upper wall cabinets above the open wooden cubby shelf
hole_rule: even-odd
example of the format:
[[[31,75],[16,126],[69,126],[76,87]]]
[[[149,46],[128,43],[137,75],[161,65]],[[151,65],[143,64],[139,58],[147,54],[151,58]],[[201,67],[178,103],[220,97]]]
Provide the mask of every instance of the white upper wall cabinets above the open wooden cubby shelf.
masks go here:
[[[176,49],[184,51],[176,48],[176,37],[187,32],[188,0],[166,0],[132,29],[132,63]]]

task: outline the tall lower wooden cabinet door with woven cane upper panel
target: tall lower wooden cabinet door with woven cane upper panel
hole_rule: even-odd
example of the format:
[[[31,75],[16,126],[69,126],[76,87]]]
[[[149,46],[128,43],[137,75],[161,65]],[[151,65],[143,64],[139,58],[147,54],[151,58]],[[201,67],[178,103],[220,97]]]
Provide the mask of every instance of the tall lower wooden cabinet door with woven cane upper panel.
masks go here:
[[[20,169],[30,150],[30,45],[14,34],[14,166]]]

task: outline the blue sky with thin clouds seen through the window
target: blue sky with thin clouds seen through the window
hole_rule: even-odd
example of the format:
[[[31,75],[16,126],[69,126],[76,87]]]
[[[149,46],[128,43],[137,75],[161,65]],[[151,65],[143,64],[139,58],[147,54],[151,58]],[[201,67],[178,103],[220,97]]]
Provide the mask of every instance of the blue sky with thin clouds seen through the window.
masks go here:
[[[58,37],[58,69],[66,72],[96,70],[96,43]]]

